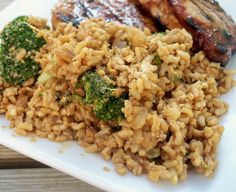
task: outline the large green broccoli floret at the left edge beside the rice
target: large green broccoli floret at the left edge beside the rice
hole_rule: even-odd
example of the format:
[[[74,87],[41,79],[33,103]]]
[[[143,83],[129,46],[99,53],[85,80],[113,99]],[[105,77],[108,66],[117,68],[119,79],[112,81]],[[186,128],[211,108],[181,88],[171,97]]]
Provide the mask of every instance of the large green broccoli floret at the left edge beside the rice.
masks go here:
[[[37,77],[40,71],[34,57],[46,42],[43,37],[38,37],[28,19],[27,16],[17,17],[0,34],[0,76],[13,85],[22,85]],[[22,50],[23,56],[17,59]]]

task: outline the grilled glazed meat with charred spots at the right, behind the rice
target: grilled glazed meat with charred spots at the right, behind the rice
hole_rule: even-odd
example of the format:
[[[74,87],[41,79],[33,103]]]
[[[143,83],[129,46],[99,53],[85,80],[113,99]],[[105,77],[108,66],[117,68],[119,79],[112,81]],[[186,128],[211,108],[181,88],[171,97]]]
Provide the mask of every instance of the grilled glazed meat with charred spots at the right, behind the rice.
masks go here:
[[[194,48],[226,65],[236,51],[236,25],[215,0],[139,0],[169,29],[185,28]]]

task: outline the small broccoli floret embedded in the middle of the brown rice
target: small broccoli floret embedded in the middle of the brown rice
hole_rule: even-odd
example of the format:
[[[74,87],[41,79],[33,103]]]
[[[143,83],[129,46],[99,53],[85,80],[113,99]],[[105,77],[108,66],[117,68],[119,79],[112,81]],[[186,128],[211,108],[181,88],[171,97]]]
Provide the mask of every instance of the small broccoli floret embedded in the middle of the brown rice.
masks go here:
[[[82,75],[79,84],[85,91],[85,104],[93,106],[94,114],[103,121],[119,121],[124,118],[121,108],[127,94],[117,97],[114,94],[115,86],[109,84],[94,71]]]

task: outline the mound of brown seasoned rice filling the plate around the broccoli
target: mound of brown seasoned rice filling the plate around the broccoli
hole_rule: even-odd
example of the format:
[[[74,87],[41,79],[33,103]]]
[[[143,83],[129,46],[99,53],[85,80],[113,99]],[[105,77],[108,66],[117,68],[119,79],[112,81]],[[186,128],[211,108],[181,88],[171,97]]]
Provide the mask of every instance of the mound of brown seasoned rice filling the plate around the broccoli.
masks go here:
[[[111,160],[120,175],[145,173],[154,182],[176,184],[189,169],[213,174],[224,131],[219,118],[228,109],[218,96],[233,86],[233,74],[203,52],[191,53],[189,33],[151,34],[102,19],[78,28],[60,23],[41,33],[47,45],[37,54],[40,83],[13,87],[0,81],[0,111],[18,134],[75,140]],[[157,55],[162,63],[155,62]],[[129,93],[119,126],[98,120],[89,105],[58,101],[58,93],[83,97],[74,85],[90,69]]]

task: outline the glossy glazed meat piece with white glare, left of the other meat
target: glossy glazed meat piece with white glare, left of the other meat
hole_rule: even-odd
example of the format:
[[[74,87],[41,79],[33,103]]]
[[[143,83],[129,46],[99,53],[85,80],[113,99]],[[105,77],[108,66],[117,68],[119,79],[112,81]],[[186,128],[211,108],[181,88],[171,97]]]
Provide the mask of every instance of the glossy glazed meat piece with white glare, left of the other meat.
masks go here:
[[[59,0],[52,11],[52,23],[80,24],[88,18],[104,18],[138,28],[157,31],[155,19],[140,9],[136,0]]]

